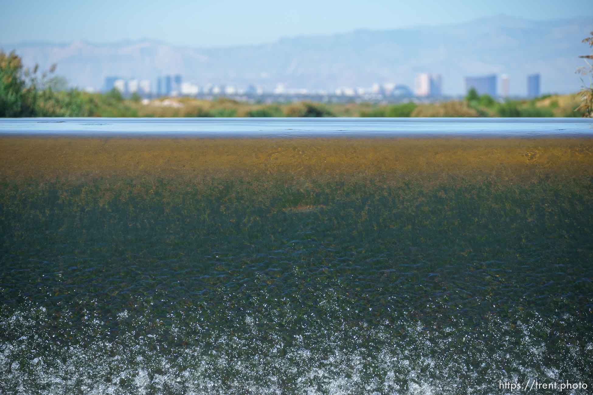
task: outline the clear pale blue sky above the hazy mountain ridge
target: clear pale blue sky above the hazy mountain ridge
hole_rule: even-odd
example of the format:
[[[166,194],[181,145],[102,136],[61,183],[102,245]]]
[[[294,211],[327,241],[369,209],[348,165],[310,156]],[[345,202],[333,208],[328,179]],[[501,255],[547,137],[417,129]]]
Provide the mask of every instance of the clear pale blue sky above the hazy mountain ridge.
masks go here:
[[[213,47],[359,28],[459,23],[498,14],[532,20],[591,15],[593,21],[591,0],[1,0],[1,4],[2,43],[154,38]]]

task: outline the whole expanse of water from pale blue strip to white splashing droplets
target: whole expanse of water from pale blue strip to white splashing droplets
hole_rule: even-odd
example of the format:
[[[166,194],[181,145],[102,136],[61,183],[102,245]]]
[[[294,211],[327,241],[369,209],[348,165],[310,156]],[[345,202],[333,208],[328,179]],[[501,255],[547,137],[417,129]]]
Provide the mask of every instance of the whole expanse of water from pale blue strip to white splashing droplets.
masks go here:
[[[0,121],[0,392],[590,393],[590,127]]]

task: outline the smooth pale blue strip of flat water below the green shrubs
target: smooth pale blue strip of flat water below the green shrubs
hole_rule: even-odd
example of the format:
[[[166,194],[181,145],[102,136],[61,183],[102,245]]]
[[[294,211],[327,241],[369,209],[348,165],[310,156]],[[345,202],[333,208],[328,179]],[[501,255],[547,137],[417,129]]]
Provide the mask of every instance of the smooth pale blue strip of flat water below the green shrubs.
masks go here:
[[[0,134],[206,137],[592,136],[586,118],[14,118]]]

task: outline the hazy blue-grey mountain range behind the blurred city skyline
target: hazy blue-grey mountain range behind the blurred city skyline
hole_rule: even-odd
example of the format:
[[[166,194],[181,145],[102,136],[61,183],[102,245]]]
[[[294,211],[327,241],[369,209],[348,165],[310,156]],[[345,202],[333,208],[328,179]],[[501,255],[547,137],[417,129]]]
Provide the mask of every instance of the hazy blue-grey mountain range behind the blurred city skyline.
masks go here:
[[[255,46],[189,48],[156,40],[117,43],[0,44],[15,50],[26,65],[57,74],[80,88],[101,89],[107,76],[151,79],[181,74],[198,85],[271,90],[336,89],[393,82],[413,88],[417,73],[440,73],[443,92],[464,92],[464,76],[509,76],[511,95],[524,95],[527,75],[541,74],[542,92],[575,92],[575,69],[589,48],[581,40],[593,30],[593,17],[531,21],[499,15],[463,24],[397,30],[356,30],[329,36],[282,38]],[[499,84],[500,85],[500,84]]]

